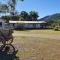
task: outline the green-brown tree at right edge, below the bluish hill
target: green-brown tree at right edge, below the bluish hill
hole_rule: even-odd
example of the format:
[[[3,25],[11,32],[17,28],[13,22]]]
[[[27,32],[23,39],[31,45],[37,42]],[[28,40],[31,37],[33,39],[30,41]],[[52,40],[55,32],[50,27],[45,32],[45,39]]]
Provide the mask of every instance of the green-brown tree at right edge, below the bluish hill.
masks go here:
[[[47,21],[47,25],[49,25],[54,30],[59,30],[60,29],[60,20],[59,19],[49,20],[49,21]]]

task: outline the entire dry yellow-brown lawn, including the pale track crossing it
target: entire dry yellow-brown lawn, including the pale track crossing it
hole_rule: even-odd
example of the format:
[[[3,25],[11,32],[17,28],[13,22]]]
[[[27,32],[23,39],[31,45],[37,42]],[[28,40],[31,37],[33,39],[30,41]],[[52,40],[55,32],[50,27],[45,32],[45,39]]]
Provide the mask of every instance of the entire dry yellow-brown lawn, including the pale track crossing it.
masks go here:
[[[14,31],[20,60],[60,60],[60,31]]]

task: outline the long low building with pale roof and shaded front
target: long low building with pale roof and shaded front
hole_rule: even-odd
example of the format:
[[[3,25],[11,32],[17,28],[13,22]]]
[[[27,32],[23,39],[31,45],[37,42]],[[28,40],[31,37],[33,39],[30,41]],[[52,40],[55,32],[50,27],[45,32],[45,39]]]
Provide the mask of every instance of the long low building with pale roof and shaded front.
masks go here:
[[[9,21],[14,25],[14,28],[47,28],[45,21]]]

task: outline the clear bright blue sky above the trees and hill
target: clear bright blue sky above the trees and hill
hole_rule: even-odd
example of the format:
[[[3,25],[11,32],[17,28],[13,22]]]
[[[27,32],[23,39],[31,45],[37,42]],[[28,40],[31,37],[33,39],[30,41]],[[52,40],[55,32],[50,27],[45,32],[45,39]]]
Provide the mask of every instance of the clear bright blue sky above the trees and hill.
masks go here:
[[[60,0],[24,0],[23,2],[17,1],[16,10],[18,12],[36,11],[39,14],[39,18],[42,18],[47,15],[60,13]]]

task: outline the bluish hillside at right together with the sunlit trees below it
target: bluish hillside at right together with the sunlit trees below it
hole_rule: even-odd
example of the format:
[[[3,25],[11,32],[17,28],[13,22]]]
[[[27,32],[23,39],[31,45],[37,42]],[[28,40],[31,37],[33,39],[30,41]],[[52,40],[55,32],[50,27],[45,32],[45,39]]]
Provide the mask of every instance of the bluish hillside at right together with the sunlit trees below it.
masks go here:
[[[47,26],[58,30],[60,28],[60,13],[46,16],[40,19],[41,21],[46,21]]]

